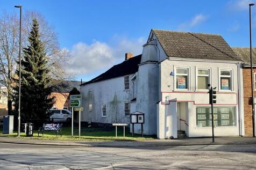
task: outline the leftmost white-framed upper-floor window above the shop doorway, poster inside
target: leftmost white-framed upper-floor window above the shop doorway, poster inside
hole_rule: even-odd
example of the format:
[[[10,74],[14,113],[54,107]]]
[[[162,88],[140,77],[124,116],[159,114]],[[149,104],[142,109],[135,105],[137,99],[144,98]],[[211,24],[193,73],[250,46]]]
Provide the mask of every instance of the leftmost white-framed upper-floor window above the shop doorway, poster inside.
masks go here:
[[[175,88],[189,90],[189,68],[175,68]]]

